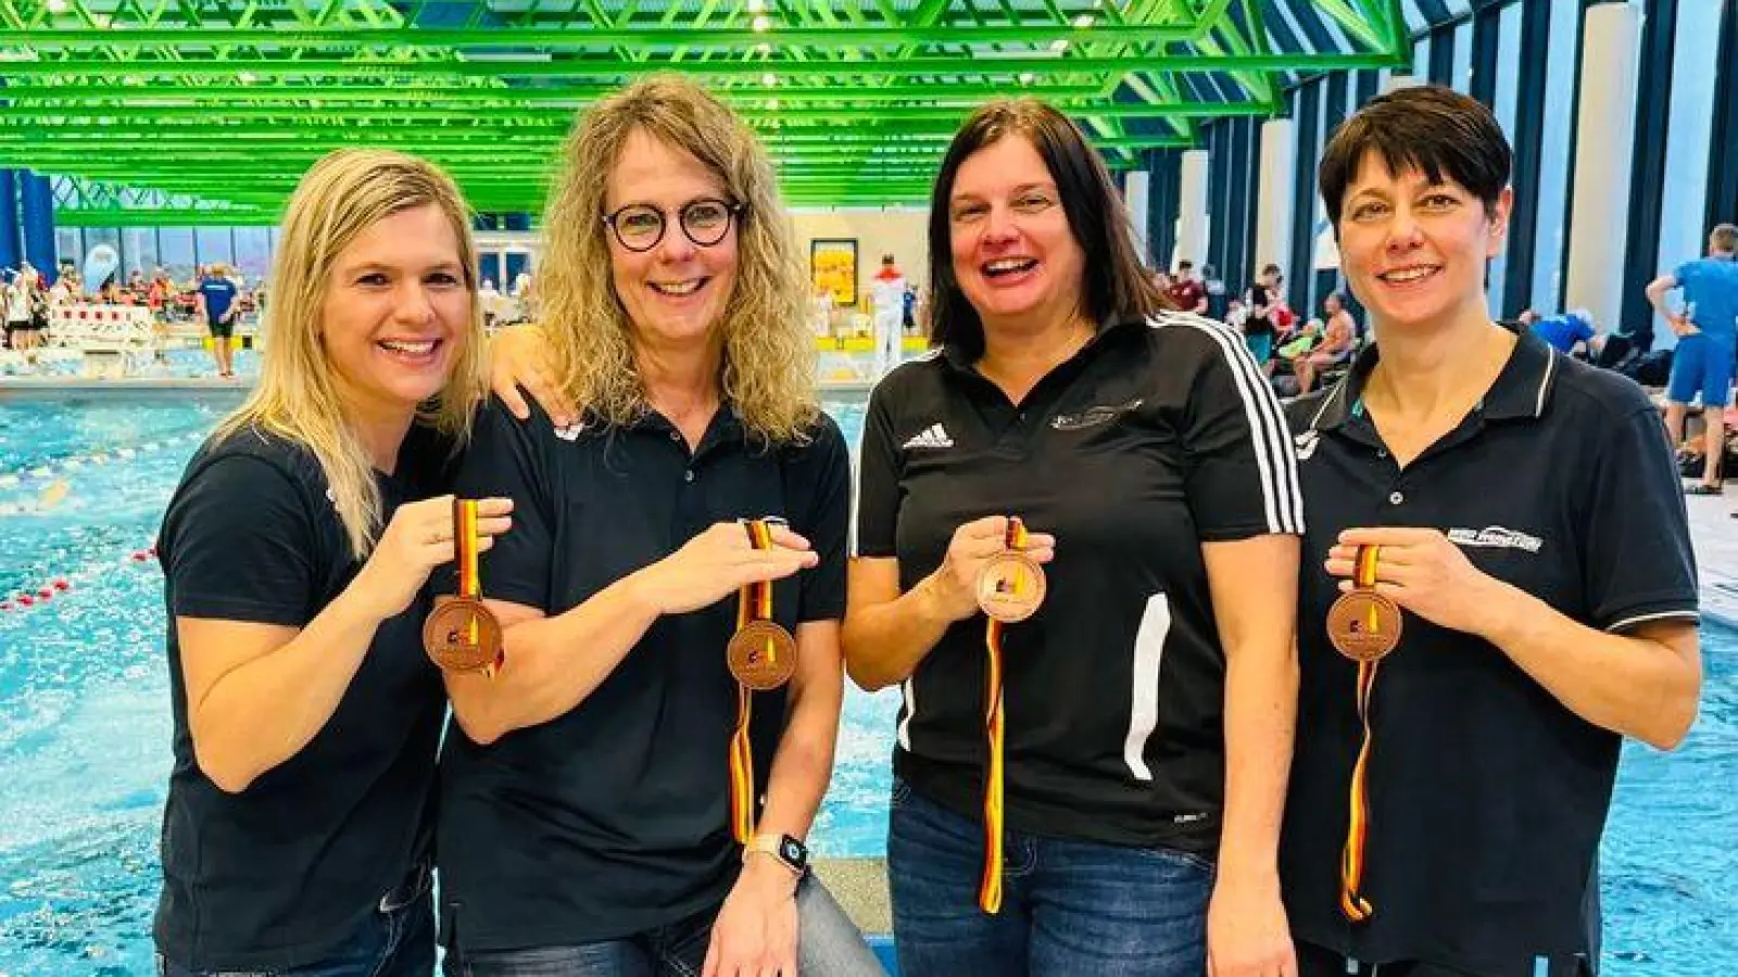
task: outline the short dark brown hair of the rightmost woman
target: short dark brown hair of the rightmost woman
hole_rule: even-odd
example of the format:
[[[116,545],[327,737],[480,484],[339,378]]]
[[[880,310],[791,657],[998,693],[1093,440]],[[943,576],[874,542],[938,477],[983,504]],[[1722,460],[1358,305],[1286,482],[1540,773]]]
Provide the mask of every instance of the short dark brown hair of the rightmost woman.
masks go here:
[[[1430,183],[1448,177],[1496,212],[1509,186],[1514,153],[1491,110],[1443,85],[1418,85],[1376,96],[1335,129],[1321,153],[1321,202],[1335,233],[1345,189],[1357,179],[1364,155],[1375,151],[1390,174],[1420,170]]]

